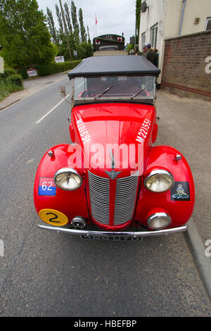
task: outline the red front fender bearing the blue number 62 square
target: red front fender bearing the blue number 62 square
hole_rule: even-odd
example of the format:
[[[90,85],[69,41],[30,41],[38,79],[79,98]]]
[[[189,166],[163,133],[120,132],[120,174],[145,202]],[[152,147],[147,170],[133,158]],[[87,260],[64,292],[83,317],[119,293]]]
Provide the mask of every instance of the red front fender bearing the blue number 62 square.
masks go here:
[[[34,206],[37,213],[47,209],[58,211],[68,218],[68,223],[71,222],[72,218],[78,216],[78,213],[84,219],[89,219],[83,169],[76,169],[83,178],[83,183],[75,191],[60,189],[53,182],[53,177],[60,168],[75,168],[74,165],[71,166],[69,147],[68,144],[53,146],[49,149],[49,151],[53,151],[53,156],[49,156],[49,151],[46,151],[46,154],[41,158],[34,180]],[[52,215],[51,218],[53,222]],[[49,219],[51,218],[49,216]],[[60,223],[52,223],[52,225],[60,225]]]

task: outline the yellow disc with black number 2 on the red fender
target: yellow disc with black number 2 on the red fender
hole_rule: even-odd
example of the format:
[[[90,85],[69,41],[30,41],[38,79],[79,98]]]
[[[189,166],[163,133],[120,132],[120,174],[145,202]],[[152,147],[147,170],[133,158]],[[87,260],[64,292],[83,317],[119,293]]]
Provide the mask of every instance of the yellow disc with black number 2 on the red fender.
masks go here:
[[[60,226],[68,223],[67,216],[60,211],[55,211],[54,209],[42,209],[39,211],[39,217],[41,220],[51,225]]]

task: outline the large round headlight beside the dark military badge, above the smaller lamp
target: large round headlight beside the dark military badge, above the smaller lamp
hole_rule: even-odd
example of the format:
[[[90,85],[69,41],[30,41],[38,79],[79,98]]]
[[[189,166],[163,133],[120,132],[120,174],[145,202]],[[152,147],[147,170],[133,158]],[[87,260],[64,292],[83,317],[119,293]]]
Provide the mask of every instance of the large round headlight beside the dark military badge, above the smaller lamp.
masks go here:
[[[174,185],[174,177],[166,170],[153,170],[144,180],[144,186],[152,192],[165,192]]]

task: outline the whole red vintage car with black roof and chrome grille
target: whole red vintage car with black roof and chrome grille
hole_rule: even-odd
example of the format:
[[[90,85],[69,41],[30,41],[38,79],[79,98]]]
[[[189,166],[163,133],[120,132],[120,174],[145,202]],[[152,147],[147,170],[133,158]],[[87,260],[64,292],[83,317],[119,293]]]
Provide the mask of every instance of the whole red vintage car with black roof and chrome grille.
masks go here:
[[[47,223],[39,227],[125,241],[187,229],[191,170],[176,149],[153,146],[159,73],[143,56],[96,56],[68,74],[72,142],[39,163],[34,204]]]

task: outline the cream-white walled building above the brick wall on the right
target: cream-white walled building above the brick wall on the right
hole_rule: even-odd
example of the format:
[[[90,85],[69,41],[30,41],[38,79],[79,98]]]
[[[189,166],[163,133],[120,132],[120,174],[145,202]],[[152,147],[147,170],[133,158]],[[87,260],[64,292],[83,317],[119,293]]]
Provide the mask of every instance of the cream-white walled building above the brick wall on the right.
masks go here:
[[[151,43],[159,52],[159,65],[165,49],[165,39],[211,30],[211,0],[146,0],[141,13],[139,49]],[[142,1],[143,4],[143,1]],[[161,82],[161,75],[158,83]]]

